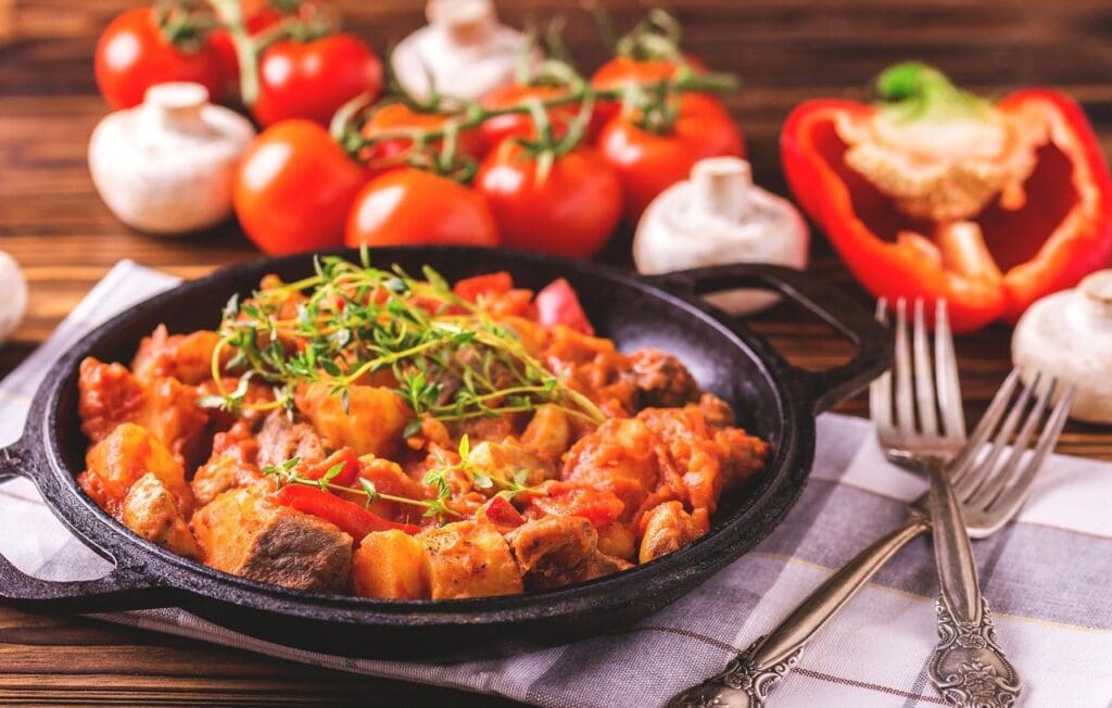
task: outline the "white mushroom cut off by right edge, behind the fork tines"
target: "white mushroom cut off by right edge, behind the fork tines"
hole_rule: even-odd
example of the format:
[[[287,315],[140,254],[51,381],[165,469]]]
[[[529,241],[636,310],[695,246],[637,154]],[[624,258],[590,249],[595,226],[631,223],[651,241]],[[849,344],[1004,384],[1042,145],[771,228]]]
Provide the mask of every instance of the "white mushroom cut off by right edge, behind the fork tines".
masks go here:
[[[1012,361],[1078,387],[1072,418],[1112,423],[1112,270],[1032,305],[1015,326]]]

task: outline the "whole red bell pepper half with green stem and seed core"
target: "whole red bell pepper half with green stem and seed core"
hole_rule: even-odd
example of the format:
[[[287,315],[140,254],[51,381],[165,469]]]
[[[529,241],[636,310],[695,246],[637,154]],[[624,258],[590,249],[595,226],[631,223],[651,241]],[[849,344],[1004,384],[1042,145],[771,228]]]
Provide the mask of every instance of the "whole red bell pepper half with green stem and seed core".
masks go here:
[[[807,101],[781,136],[796,199],[874,296],[945,298],[964,332],[1109,263],[1112,178],[1068,97],[991,103],[916,62],[882,73],[877,93]]]

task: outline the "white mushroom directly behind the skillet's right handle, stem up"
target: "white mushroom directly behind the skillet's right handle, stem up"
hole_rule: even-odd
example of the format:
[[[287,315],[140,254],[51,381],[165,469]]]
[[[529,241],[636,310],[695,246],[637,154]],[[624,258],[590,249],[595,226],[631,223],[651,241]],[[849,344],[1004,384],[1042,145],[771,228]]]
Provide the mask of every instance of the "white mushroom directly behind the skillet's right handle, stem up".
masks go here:
[[[633,243],[644,273],[661,273],[738,261],[807,265],[807,226],[786,199],[753,183],[749,163],[709,158],[692,168],[689,181],[673,185],[645,210]],[[759,290],[731,290],[707,297],[734,315],[776,302]]]

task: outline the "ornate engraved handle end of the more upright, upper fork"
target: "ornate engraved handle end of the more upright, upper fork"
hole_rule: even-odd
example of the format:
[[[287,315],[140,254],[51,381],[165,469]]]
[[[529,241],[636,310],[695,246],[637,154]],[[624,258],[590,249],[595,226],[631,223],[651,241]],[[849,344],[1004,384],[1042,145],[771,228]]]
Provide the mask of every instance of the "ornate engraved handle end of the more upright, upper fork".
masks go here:
[[[989,601],[982,599],[980,621],[956,619],[940,597],[939,637],[927,671],[951,706],[1007,708],[1020,694],[1020,677],[996,644]]]

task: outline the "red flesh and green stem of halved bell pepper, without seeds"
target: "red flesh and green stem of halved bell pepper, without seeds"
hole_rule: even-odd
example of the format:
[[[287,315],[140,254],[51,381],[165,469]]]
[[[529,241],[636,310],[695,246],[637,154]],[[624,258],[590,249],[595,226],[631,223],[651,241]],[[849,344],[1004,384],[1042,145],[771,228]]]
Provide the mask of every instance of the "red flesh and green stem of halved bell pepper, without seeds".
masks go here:
[[[904,82],[895,90],[893,77]],[[796,199],[865,289],[890,300],[921,297],[929,305],[944,298],[953,329],[965,332],[997,318],[1014,322],[1039,298],[1073,287],[1108,265],[1112,178],[1076,103],[1058,91],[1029,89],[992,106],[922,64],[891,69],[881,77],[882,88],[885,78],[895,98],[887,108],[807,101],[792,112],[781,136],[784,170]],[[847,164],[850,146],[838,126],[865,124],[895,108],[905,111],[909,124],[929,132],[953,109],[943,104],[940,113],[932,101],[954,97],[977,110],[987,107],[997,116],[1035,121],[1044,127],[1045,140],[1034,151],[1034,167],[1017,201],[1003,199],[1002,191],[962,222],[924,222]],[[919,112],[907,111],[916,101]]]

